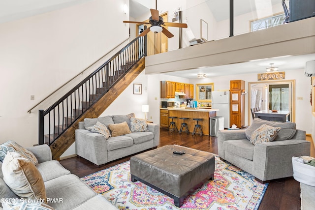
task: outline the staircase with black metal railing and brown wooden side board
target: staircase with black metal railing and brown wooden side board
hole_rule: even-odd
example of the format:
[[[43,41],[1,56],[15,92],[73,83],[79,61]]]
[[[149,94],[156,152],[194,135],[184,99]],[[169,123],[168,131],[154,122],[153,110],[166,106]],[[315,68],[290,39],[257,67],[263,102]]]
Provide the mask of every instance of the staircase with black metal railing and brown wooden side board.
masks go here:
[[[39,110],[39,145],[59,159],[85,118],[97,118],[145,68],[145,38],[136,37],[47,110]]]

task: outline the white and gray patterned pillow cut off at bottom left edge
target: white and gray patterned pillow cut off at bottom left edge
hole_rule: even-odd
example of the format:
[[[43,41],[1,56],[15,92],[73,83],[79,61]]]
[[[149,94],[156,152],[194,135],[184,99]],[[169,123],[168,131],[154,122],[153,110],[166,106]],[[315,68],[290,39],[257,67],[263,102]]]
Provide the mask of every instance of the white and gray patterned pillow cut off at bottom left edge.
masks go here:
[[[5,202],[3,204],[4,210],[55,210],[45,203],[34,200],[32,202]]]

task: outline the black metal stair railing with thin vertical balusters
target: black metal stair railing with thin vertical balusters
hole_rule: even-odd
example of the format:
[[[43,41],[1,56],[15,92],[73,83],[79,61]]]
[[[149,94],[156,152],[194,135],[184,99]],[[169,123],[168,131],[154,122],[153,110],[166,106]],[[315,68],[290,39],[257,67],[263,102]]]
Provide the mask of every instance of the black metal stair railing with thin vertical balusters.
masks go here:
[[[136,37],[47,110],[39,110],[38,144],[51,145],[75,120],[146,56],[145,37]]]

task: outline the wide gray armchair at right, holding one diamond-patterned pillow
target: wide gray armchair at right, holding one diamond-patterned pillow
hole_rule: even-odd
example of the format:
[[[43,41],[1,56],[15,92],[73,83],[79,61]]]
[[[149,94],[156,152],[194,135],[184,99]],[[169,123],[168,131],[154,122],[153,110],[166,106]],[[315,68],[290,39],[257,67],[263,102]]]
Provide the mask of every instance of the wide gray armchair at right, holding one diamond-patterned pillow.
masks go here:
[[[281,127],[281,130],[274,141],[253,145],[250,143],[251,134],[263,124]],[[220,158],[252,174],[263,183],[292,177],[292,156],[309,156],[310,147],[305,131],[296,129],[294,122],[255,118],[247,129],[218,132]]]

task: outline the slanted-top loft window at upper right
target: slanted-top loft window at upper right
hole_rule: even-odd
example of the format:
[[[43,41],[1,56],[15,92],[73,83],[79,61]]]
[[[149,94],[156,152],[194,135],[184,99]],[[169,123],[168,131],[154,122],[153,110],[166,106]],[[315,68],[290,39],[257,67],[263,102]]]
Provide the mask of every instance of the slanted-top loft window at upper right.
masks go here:
[[[275,15],[268,18],[259,19],[251,22],[251,31],[268,29],[284,24],[285,15]]]

